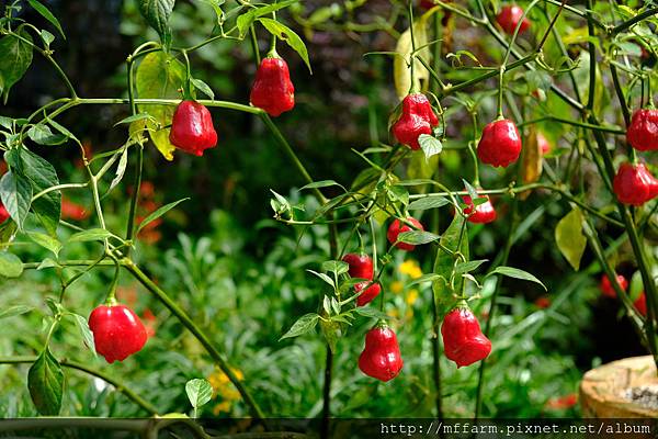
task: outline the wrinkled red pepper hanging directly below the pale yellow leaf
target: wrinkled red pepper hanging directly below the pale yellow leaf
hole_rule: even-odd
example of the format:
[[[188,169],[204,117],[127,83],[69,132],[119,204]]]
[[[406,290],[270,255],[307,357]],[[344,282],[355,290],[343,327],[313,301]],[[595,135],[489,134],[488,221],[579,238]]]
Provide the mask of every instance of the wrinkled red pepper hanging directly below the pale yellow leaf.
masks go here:
[[[412,93],[402,99],[402,112],[392,132],[400,144],[411,149],[420,149],[418,137],[421,134],[432,134],[432,126],[436,125],[439,117],[428,98],[422,93]]]

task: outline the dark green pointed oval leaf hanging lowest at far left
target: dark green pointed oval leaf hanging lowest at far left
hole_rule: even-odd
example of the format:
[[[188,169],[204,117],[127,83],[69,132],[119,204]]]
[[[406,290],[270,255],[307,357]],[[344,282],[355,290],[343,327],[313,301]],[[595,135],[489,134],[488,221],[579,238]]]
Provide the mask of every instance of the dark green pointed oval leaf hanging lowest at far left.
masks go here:
[[[61,408],[64,372],[46,348],[27,372],[27,387],[34,406],[45,416],[57,416]]]

